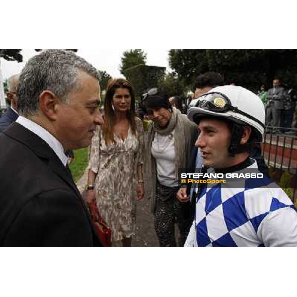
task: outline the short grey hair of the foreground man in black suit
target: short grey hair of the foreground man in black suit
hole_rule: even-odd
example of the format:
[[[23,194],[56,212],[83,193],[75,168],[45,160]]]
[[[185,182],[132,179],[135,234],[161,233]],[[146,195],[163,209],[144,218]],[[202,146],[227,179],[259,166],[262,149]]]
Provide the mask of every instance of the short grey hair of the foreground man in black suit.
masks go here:
[[[53,92],[63,102],[69,101],[67,95],[81,87],[77,81],[79,70],[100,79],[96,68],[71,51],[49,49],[32,57],[19,78],[18,112],[24,116],[34,115],[44,90]]]

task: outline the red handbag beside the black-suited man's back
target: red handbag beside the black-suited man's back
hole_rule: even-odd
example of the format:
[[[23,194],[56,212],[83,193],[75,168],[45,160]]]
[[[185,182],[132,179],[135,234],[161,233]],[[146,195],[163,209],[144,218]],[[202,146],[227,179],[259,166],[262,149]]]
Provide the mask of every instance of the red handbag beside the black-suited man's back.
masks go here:
[[[111,229],[104,222],[95,202],[90,203],[89,211],[97,233],[104,247],[111,247]]]

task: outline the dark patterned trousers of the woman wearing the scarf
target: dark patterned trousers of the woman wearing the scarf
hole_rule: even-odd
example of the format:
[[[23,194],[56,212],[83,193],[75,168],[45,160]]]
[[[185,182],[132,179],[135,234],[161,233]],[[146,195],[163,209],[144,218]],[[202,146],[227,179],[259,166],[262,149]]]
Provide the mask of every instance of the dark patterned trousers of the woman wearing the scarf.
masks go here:
[[[175,222],[179,229],[178,245],[183,247],[193,222],[190,202],[182,203],[176,198],[179,188],[166,187],[157,182],[155,230],[160,247],[176,247]]]

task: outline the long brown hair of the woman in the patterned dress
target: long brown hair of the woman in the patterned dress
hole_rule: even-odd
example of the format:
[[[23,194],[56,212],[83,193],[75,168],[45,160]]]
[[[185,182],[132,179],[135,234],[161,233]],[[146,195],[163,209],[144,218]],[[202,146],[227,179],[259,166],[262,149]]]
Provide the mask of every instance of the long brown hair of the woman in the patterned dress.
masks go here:
[[[132,129],[132,133],[135,134],[136,122],[135,122],[135,93],[130,82],[123,78],[114,78],[108,81],[106,96],[104,101],[104,124],[102,131],[104,134],[104,140],[106,145],[115,143],[114,140],[114,125],[115,125],[115,114],[112,108],[112,99],[117,88],[128,89],[131,96],[130,109],[127,112],[127,119]]]

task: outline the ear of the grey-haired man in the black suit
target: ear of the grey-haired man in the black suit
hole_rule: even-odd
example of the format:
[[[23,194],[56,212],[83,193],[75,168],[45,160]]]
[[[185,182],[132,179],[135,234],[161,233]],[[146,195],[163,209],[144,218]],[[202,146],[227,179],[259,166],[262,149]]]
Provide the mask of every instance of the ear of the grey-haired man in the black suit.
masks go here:
[[[39,109],[50,120],[56,120],[60,99],[49,90],[43,91],[39,95]]]

